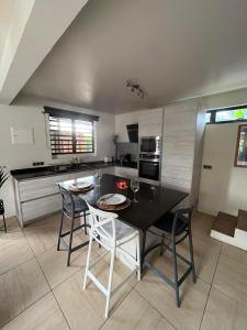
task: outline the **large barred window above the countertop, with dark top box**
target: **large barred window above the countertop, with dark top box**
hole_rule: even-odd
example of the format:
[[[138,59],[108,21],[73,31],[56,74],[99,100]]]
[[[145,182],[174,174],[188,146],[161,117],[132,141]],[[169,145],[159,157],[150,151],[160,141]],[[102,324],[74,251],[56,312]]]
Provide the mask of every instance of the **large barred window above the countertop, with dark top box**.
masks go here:
[[[94,121],[98,117],[48,107],[45,107],[45,113],[49,114],[53,155],[94,152]]]

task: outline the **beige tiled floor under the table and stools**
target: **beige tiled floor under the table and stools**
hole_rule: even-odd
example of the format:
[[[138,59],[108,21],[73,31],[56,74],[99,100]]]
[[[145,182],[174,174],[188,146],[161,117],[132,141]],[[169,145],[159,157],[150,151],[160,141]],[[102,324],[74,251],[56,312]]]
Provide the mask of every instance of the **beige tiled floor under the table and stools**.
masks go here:
[[[104,296],[91,283],[82,289],[87,249],[77,251],[71,266],[66,252],[56,251],[58,217],[53,216],[21,230],[8,219],[0,232],[0,328],[3,329],[247,329],[247,253],[210,238],[214,218],[193,216],[198,282],[188,278],[180,288],[181,308],[173,290],[150,272],[142,282],[126,283],[113,297],[111,315],[103,317]],[[81,232],[75,243],[87,240]],[[179,248],[184,255],[188,244]],[[93,246],[93,256],[102,250]],[[151,256],[171,275],[169,253]],[[179,271],[183,265],[179,264]],[[109,260],[96,272],[108,278]],[[116,262],[114,285],[128,272]]]

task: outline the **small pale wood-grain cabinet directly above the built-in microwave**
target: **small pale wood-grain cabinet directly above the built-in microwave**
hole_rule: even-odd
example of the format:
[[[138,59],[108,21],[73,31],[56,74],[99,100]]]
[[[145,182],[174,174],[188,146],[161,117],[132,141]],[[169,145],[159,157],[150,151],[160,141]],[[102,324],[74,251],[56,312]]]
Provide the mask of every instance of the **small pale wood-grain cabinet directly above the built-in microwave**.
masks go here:
[[[139,113],[139,138],[162,135],[162,108],[157,108]]]

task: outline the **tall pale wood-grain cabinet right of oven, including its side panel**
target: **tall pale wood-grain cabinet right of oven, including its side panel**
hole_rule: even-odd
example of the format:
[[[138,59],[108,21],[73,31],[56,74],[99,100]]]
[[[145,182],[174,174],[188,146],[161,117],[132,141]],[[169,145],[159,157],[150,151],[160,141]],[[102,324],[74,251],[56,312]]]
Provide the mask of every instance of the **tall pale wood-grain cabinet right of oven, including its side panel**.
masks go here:
[[[164,185],[198,198],[205,111],[197,103],[166,107],[164,111]]]

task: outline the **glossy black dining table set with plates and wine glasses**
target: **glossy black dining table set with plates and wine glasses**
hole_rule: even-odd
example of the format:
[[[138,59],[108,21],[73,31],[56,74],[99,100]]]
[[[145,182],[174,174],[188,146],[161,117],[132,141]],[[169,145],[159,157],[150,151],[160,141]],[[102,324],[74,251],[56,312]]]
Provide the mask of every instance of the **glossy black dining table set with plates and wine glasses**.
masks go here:
[[[126,180],[127,189],[121,190],[116,183],[121,179]],[[187,193],[166,188],[162,186],[155,186],[146,183],[139,183],[139,190],[136,193],[136,200],[134,202],[134,193],[131,190],[130,179],[120,176],[103,174],[99,180],[96,176],[82,177],[74,180],[59,183],[61,187],[68,189],[70,185],[80,183],[91,183],[94,188],[86,194],[77,194],[80,198],[93,206],[97,206],[98,199],[105,194],[122,194],[132,200],[131,205],[120,211],[114,211],[119,215],[119,220],[138,230],[142,234],[141,260],[142,268],[145,256],[146,232],[155,222],[157,222],[165,213],[173,209],[187,196]]]

